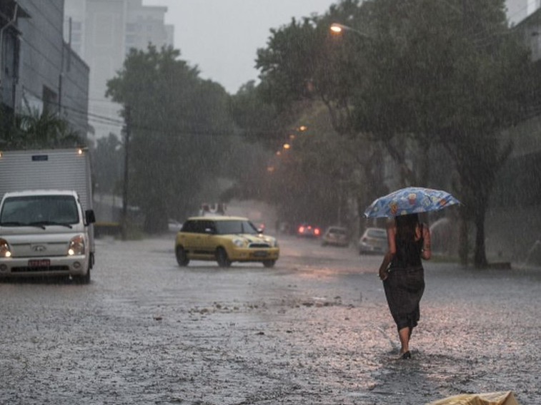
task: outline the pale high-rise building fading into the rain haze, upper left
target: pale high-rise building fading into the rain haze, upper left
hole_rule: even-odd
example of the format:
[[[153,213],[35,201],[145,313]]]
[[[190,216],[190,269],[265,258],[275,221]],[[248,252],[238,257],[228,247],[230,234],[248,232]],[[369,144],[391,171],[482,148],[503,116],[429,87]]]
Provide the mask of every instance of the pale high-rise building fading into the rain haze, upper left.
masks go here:
[[[66,0],[66,41],[90,66],[90,122],[96,138],[120,135],[121,106],[106,98],[107,81],[122,68],[129,49],[173,45],[167,7],[142,0]]]

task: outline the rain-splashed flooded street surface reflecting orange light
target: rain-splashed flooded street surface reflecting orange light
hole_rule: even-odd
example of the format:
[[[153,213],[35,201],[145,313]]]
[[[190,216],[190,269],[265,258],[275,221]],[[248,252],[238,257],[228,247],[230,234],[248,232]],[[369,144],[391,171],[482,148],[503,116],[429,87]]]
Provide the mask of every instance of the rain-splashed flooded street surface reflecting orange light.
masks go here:
[[[174,237],[98,240],[89,285],[0,284],[0,404],[541,403],[541,271],[425,263],[412,359],[379,256],[279,239],[274,269],[180,268]]]

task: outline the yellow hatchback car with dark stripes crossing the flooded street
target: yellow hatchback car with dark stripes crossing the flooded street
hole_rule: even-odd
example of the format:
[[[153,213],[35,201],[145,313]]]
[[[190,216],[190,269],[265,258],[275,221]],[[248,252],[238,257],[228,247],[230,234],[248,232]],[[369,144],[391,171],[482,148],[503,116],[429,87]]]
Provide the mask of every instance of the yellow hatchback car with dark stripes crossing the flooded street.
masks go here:
[[[190,260],[216,260],[220,267],[261,262],[272,267],[279,257],[278,242],[262,232],[244,217],[190,217],[175,239],[177,262],[187,266]]]

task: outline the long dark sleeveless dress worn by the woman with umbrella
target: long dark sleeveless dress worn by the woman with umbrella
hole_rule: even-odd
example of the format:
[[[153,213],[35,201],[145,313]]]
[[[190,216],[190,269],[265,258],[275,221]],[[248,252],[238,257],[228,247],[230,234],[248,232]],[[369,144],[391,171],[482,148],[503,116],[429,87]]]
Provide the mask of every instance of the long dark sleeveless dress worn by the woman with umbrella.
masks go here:
[[[412,242],[395,238],[397,252],[389,265],[389,277],[383,282],[385,297],[398,330],[404,327],[413,329],[419,321],[419,302],[425,291],[422,242],[422,237]]]

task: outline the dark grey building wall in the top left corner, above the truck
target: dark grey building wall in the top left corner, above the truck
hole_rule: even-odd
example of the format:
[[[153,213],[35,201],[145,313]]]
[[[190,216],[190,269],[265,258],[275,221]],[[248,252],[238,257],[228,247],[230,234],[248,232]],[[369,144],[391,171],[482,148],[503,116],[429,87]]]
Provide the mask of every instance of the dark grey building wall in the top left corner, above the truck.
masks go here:
[[[0,101],[7,115],[49,111],[86,135],[89,67],[63,26],[64,0],[0,2]]]

